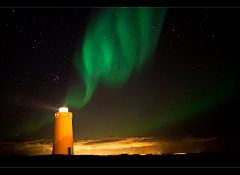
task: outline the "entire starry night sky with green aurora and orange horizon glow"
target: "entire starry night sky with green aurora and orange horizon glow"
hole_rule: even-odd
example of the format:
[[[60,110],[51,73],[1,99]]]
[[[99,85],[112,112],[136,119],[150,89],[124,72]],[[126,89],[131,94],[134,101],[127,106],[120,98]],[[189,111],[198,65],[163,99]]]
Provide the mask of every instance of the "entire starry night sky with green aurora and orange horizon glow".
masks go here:
[[[1,8],[0,154],[239,151],[237,8]]]

